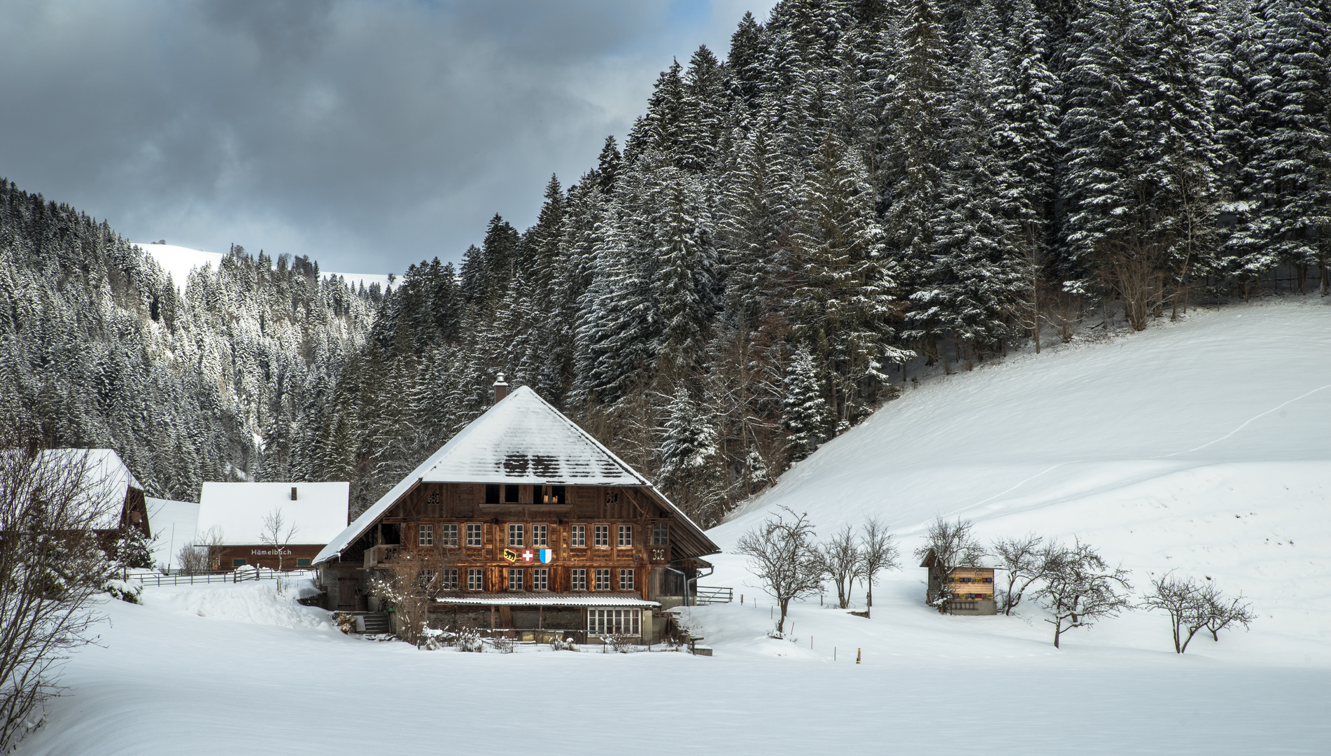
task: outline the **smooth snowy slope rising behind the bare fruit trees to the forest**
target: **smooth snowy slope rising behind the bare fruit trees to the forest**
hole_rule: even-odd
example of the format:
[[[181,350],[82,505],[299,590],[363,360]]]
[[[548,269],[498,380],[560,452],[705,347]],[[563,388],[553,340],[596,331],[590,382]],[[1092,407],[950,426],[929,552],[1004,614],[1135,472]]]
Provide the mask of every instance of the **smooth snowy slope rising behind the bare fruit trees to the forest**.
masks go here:
[[[924,571],[909,552],[937,515],[970,518],[985,539],[1078,535],[1138,584],[1179,568],[1242,590],[1262,619],[1238,643],[1272,658],[1294,643],[1295,658],[1320,658],[1314,646],[1331,638],[1328,323],[1322,298],[1199,310],[941,377],[823,446],[709,535],[729,548],[776,507],[809,512],[823,534],[877,514],[906,552],[880,595],[913,603]],[[755,584],[741,559],[717,564],[707,582]],[[1162,648],[1163,620],[1150,623],[1071,642]]]

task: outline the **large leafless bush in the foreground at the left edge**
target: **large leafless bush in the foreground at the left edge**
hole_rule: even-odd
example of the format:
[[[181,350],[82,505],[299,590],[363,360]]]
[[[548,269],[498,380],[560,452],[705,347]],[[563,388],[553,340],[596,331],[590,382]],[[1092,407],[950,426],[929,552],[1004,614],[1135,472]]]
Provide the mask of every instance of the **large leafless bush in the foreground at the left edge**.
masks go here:
[[[56,695],[56,669],[93,642],[91,608],[112,576],[98,526],[114,514],[84,453],[3,443],[0,453],[0,752]]]

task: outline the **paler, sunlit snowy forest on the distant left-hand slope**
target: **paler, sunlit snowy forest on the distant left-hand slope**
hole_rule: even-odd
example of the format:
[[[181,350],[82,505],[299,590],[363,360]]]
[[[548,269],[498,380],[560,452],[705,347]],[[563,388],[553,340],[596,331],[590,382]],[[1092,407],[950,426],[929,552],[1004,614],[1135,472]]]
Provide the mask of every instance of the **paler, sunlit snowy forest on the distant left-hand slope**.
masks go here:
[[[381,298],[241,248],[181,294],[105,221],[0,181],[0,422],[114,449],[149,495],[197,500],[257,471],[257,434],[327,390]]]

